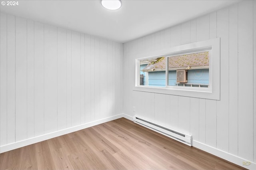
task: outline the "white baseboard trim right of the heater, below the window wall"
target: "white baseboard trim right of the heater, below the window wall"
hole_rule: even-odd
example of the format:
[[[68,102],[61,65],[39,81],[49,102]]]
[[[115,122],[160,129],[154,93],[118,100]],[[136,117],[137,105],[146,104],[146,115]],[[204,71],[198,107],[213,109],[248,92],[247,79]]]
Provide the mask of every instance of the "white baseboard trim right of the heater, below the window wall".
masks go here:
[[[236,155],[230,154],[228,152],[224,152],[222,150],[219,150],[217,148],[214,148],[212,146],[208,146],[206,144],[203,144],[201,142],[198,142],[196,140],[193,140],[193,145],[195,148],[204,150],[205,152],[208,152],[210,154],[213,154],[215,156],[218,156],[222,159],[228,160],[229,162],[232,162],[234,164],[237,164],[239,166],[242,166],[244,168],[247,168],[249,170],[256,170],[256,164],[254,162],[245,160],[243,158],[240,158]]]

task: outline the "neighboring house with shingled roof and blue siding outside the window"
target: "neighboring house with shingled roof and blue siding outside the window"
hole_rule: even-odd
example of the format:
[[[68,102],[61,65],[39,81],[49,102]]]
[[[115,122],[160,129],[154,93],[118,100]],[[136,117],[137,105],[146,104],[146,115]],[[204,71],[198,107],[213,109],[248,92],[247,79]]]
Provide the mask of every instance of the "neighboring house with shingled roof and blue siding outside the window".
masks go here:
[[[143,75],[143,85],[165,87],[166,58],[168,58],[168,85],[208,87],[209,51],[141,60],[140,75]],[[177,83],[176,70],[182,69],[187,70],[187,83]]]

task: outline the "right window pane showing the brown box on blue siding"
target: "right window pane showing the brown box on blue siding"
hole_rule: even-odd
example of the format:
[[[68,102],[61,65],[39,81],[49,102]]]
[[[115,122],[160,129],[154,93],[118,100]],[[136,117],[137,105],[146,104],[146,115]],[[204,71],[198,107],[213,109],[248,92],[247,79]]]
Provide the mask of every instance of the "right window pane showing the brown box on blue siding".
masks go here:
[[[209,51],[168,57],[168,85],[209,87]]]

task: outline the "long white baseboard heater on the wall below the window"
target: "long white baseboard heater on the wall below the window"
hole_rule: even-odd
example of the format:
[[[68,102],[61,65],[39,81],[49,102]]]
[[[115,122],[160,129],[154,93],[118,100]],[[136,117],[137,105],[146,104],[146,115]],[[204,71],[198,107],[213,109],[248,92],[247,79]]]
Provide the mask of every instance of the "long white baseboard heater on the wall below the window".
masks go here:
[[[147,121],[145,119],[139,118],[137,116],[133,117],[133,122],[139,125],[142,125],[146,128],[154,130],[158,133],[161,133],[169,138],[182,142],[188,146],[191,146],[192,136],[188,134],[183,134],[182,132],[178,132],[176,130],[163,127],[161,125],[157,125],[153,122]]]

